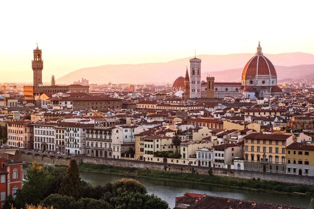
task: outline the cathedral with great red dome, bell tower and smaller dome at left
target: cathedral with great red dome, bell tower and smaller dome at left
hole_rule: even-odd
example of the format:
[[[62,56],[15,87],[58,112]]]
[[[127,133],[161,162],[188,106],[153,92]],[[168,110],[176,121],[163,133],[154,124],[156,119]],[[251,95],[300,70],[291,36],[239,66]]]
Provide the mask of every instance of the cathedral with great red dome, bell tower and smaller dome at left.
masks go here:
[[[245,65],[242,82],[219,83],[215,77],[201,80],[201,59],[190,59],[190,76],[188,68],[185,78],[180,76],[173,84],[172,92],[185,99],[193,98],[251,98],[282,96],[277,86],[277,74],[273,64],[263,55],[258,43],[257,52]]]

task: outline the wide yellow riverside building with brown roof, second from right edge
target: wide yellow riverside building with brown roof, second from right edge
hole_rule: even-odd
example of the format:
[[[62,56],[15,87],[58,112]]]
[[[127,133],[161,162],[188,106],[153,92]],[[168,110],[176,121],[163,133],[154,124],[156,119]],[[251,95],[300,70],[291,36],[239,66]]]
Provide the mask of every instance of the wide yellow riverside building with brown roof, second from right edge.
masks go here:
[[[251,133],[244,137],[244,169],[286,172],[286,146],[292,135]]]

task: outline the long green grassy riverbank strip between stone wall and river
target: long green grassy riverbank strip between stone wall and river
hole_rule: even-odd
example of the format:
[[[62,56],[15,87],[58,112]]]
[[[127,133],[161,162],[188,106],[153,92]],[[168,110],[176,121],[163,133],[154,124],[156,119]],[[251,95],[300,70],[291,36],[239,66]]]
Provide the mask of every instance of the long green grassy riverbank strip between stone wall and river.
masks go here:
[[[298,195],[314,195],[314,187],[307,185],[295,185],[276,181],[266,181],[260,179],[238,179],[226,176],[216,176],[209,172],[208,175],[193,173],[178,173],[171,171],[149,170],[134,167],[115,167],[111,165],[82,163],[79,169],[83,171],[115,173],[128,176],[139,176],[154,179],[176,180],[185,182],[197,182],[212,185],[224,185],[241,187],[246,189],[264,190],[269,192],[284,192]]]

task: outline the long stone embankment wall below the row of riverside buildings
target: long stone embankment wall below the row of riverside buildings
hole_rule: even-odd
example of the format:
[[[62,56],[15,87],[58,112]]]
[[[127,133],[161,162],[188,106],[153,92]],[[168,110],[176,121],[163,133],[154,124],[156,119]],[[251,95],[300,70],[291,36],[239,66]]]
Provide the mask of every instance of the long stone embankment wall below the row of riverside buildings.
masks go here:
[[[112,159],[112,158],[100,158],[100,157],[87,157],[87,156],[60,156],[60,155],[46,155],[43,153],[28,153],[28,152],[17,152],[16,155],[10,155],[11,159],[25,161],[32,163],[36,160],[38,163],[44,164],[55,164],[55,165],[68,165],[72,158],[75,158],[78,163],[90,163],[90,164],[106,164],[118,167],[136,167],[150,170],[167,170],[173,172],[184,172],[191,173],[194,168],[195,173],[208,174],[209,170],[212,170],[213,175],[229,176],[244,179],[261,179],[261,180],[272,180],[285,183],[296,183],[314,185],[313,176],[299,176],[290,174],[279,174],[279,173],[268,173],[268,172],[256,172],[246,170],[234,170],[234,169],[223,169],[223,168],[209,168],[199,166],[187,166],[187,165],[176,165],[170,163],[157,163],[157,162],[145,162],[138,160],[125,160],[125,159]]]

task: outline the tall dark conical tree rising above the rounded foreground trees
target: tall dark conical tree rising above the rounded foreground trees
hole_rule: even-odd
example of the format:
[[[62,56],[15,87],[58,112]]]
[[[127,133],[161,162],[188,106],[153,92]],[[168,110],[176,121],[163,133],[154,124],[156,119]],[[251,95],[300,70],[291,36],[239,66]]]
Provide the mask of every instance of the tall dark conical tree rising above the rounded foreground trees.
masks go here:
[[[78,199],[80,197],[81,188],[82,183],[77,163],[75,159],[72,159],[62,181],[59,193]]]

